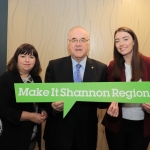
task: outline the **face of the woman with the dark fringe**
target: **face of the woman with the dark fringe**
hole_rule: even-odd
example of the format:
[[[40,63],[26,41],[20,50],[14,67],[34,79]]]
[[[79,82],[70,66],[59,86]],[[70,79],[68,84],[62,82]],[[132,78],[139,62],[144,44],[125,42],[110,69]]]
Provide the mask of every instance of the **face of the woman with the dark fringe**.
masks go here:
[[[35,65],[36,58],[31,54],[19,54],[18,55],[18,70],[21,74],[29,74]]]

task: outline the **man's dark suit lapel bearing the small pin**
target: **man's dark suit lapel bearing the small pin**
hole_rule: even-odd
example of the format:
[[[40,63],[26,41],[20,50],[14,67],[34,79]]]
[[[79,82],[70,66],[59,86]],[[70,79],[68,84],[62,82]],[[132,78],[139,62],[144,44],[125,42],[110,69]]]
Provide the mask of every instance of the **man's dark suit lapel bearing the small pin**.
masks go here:
[[[94,68],[94,65],[92,63],[92,60],[87,57],[83,82],[93,81],[93,72],[94,72],[94,69],[95,68]]]

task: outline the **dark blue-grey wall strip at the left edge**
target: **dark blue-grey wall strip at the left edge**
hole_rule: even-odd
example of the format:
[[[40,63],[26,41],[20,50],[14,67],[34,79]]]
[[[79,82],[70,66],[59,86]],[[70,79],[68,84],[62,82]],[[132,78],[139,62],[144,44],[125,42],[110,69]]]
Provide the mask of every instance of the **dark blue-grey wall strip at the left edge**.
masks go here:
[[[6,71],[8,0],[0,0],[0,75]]]

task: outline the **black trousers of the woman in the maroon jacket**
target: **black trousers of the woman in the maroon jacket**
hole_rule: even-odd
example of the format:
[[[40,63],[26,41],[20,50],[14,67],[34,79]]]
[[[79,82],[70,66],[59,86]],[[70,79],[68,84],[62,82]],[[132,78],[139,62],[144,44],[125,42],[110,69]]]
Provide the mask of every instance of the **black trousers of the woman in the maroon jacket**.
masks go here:
[[[150,137],[144,138],[143,123],[122,119],[118,134],[105,128],[109,150],[147,150]]]

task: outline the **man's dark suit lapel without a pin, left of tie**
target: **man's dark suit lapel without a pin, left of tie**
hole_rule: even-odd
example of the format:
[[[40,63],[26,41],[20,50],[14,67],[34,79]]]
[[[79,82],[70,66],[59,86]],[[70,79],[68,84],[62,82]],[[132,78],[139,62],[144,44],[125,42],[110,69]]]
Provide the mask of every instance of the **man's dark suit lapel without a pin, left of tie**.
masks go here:
[[[73,69],[72,69],[72,61],[71,56],[66,58],[64,63],[64,81],[65,82],[73,82]]]

